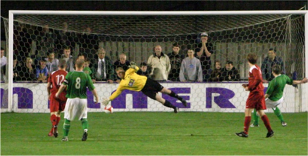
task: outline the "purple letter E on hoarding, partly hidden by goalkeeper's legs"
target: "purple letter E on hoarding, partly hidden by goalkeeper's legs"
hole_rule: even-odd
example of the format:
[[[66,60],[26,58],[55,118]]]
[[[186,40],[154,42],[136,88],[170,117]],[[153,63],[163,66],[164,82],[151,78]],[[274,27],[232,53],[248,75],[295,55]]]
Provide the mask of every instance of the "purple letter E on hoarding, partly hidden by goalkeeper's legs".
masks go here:
[[[170,90],[174,91],[177,94],[190,94],[190,88],[169,88]],[[179,107],[179,108],[190,108],[190,103],[187,103],[187,107],[183,106],[181,102],[177,102],[178,99],[175,97],[171,97],[167,94],[162,94],[162,97],[168,100],[172,105]],[[189,96],[181,96],[186,101],[189,100]]]

